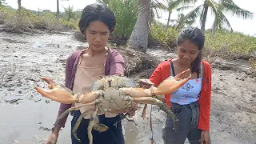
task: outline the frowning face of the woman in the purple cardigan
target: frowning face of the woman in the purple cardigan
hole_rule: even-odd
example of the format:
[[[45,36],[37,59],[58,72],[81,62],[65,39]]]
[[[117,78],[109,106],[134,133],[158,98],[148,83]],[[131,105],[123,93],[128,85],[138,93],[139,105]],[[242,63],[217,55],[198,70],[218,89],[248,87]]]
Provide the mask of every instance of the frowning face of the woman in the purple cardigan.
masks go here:
[[[86,28],[86,41],[92,50],[105,50],[109,38],[110,29],[101,21],[90,22]]]

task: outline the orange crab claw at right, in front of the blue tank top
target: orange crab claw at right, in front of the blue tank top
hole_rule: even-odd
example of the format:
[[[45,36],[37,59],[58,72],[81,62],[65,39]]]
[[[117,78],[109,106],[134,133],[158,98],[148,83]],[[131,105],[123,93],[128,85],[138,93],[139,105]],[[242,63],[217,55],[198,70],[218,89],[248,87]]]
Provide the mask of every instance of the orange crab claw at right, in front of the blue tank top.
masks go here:
[[[169,78],[166,78],[163,82],[159,84],[159,86],[154,90],[154,95],[164,95],[164,94],[170,94],[174,92],[175,90],[178,90],[178,88],[182,87],[190,78],[191,74],[188,78],[182,79],[182,76],[189,72],[190,69],[182,71],[182,73],[177,74],[175,77],[170,76]]]

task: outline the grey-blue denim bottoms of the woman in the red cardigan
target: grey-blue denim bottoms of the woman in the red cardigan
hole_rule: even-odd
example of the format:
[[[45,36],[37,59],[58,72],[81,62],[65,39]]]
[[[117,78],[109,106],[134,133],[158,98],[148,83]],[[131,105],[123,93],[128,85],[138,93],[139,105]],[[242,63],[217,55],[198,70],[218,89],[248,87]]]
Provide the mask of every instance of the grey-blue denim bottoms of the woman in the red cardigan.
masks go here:
[[[178,130],[175,132],[174,122],[170,116],[166,115],[164,126],[162,127],[162,138],[165,144],[184,144],[186,138],[190,144],[199,144],[202,130],[198,129],[199,104],[192,102],[188,105],[178,105],[171,103],[171,110],[178,118]]]

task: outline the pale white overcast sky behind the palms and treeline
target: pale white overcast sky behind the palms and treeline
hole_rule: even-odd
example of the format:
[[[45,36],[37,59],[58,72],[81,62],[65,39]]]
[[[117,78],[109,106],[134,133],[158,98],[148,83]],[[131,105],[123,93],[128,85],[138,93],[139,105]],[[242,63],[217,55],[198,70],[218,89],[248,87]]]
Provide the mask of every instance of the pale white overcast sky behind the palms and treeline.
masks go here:
[[[74,9],[83,9],[86,5],[96,2],[95,0],[70,0],[62,1],[59,0],[60,10],[63,11],[63,6],[74,6]],[[231,15],[226,15],[230,21],[230,25],[235,31],[242,32],[244,34],[254,35],[256,34],[256,0],[234,0],[234,2],[240,6],[242,9],[249,10],[254,13],[253,19],[244,20],[242,18],[236,18]],[[18,8],[17,0],[6,0],[8,6]],[[196,4],[199,5],[202,3],[202,0]],[[57,2],[56,0],[22,0],[22,6],[30,10],[51,10],[56,11]],[[175,19],[177,13],[174,12],[171,14],[171,18]],[[162,18],[159,19],[160,22],[166,22],[168,14],[162,13]],[[214,15],[211,12],[207,15],[206,29],[212,26],[214,21]]]

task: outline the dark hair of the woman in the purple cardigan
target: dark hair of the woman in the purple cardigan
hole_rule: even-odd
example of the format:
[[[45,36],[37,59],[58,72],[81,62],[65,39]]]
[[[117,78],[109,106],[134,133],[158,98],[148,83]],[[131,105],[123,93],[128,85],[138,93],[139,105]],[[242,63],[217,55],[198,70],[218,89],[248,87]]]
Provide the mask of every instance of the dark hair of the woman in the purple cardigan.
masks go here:
[[[84,34],[86,27],[89,26],[90,22],[99,20],[109,27],[110,33],[114,31],[116,25],[116,18],[114,13],[109,9],[108,6],[102,3],[94,3],[86,6],[82,10],[82,15],[78,23],[79,29]]]

